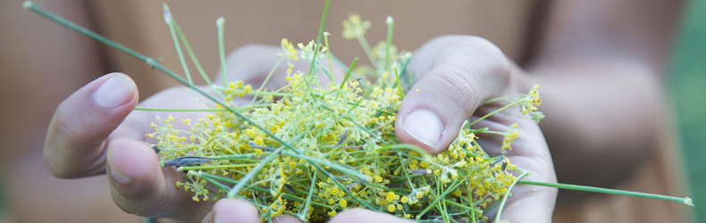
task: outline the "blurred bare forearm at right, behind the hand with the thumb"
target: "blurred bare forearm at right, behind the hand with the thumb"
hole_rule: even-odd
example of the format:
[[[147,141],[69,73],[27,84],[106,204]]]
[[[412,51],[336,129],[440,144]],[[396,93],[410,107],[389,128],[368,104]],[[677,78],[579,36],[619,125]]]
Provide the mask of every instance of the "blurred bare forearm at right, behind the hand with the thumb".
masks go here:
[[[541,86],[559,182],[613,186],[655,145],[662,90],[645,63],[594,58],[539,63],[520,82]]]

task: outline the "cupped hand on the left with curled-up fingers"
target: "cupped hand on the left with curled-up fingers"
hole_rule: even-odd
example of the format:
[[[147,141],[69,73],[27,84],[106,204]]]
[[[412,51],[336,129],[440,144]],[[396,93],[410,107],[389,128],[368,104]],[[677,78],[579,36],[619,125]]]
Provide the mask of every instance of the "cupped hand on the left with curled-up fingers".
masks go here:
[[[228,58],[230,80],[243,80],[259,87],[278,58],[280,47],[249,45]],[[307,62],[296,64],[306,69]],[[284,75],[281,66],[276,75]],[[336,74],[336,72],[334,72]],[[340,73],[339,73],[340,75]],[[218,83],[222,78],[214,78]],[[284,78],[272,78],[269,88],[282,87]],[[202,87],[210,91],[209,87]],[[155,151],[147,146],[148,123],[168,111],[133,111],[138,89],[120,73],[107,74],[80,88],[61,103],[49,125],[44,157],[46,167],[58,178],[84,178],[107,174],[114,202],[123,210],[146,217],[170,218],[181,222],[259,222],[248,202],[223,199],[193,202],[191,192],[174,186],[181,179],[175,168],[161,168]],[[249,101],[244,103],[249,103]],[[205,99],[201,102],[207,103]],[[243,104],[241,102],[240,104]],[[203,108],[189,87],[172,87],[139,103],[140,107],[166,109]],[[198,120],[205,112],[181,112],[179,118]],[[189,130],[189,129],[185,129]],[[154,142],[152,142],[154,143]],[[213,211],[212,211],[213,210]],[[209,211],[212,211],[209,214]],[[230,221],[229,221],[230,220]],[[281,222],[296,220],[282,217]]]

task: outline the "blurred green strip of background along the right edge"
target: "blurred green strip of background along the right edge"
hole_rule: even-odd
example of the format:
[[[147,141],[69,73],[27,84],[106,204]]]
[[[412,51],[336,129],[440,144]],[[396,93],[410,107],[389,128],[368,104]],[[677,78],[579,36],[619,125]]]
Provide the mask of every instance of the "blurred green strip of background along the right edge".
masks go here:
[[[694,222],[706,222],[706,0],[685,7],[669,70],[669,94],[678,120]]]

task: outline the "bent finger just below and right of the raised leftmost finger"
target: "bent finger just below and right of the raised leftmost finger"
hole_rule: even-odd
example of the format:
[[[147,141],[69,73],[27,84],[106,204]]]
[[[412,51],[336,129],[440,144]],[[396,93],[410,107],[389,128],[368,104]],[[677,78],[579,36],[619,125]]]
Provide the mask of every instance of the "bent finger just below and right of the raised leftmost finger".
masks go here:
[[[212,202],[193,202],[189,192],[174,186],[181,179],[173,168],[163,169],[155,151],[144,142],[116,138],[108,145],[108,182],[113,201],[123,211],[181,221],[203,219]]]

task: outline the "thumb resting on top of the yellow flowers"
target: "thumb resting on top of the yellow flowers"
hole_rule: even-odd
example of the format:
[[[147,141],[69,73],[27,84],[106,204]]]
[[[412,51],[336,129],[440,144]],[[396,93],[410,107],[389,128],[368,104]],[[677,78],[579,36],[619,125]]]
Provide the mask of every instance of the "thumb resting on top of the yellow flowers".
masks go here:
[[[509,68],[500,49],[480,37],[439,37],[423,45],[410,62],[423,77],[399,106],[399,140],[441,153],[481,103],[504,94]]]

